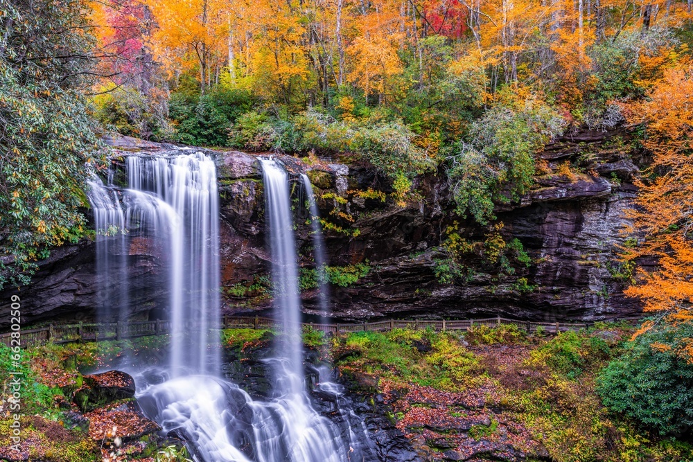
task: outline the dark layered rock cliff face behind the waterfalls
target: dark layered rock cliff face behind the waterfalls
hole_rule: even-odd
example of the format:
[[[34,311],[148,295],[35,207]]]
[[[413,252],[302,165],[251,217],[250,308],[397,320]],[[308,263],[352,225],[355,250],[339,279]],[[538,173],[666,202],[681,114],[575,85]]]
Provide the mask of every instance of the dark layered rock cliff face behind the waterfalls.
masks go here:
[[[615,245],[623,242],[635,188],[629,183],[638,171],[623,152],[627,134],[582,133],[547,147],[545,172],[518,202],[499,204],[496,215],[505,225],[502,235],[518,238],[532,265],[502,281],[483,271],[455,285],[437,281],[434,268],[446,228],[456,224],[466,236],[483,239],[487,229],[455,217],[443,172],[416,179],[418,191],[405,204],[396,204],[392,189],[366,166],[294,157],[280,157],[290,171],[294,213],[302,267],[313,267],[313,241],[299,173],[313,184],[324,227],[328,264],[335,267],[367,264],[366,276],[346,287],[332,286],[332,316],[363,320],[369,317],[478,317],[502,314],[538,320],[599,320],[630,317],[640,305],[622,295]],[[169,145],[112,141],[131,151],[171,149]],[[271,309],[270,256],[265,246],[263,185],[259,164],[243,152],[211,152],[216,157],[220,190],[222,301],[228,314],[263,313]],[[571,161],[566,172],[559,166]],[[560,174],[563,172],[563,174]],[[369,191],[369,193],[358,193]],[[338,229],[342,229],[339,231]],[[130,249],[128,285],[132,313],[166,317],[166,294],[157,287],[165,276],[164,260],[151,246]],[[83,242],[53,251],[40,262],[28,287],[7,289],[7,299],[22,297],[26,323],[61,317],[87,320],[97,299],[94,245]],[[518,278],[534,290],[518,291]],[[109,281],[119,284],[122,281]],[[302,293],[304,312],[319,311],[320,291]],[[9,319],[0,314],[0,324]]]

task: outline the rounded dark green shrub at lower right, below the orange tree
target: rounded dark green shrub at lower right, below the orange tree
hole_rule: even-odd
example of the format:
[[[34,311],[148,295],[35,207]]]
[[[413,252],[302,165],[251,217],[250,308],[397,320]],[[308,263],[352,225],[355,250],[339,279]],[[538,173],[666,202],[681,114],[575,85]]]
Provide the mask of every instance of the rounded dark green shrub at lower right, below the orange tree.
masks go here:
[[[597,393],[611,411],[659,434],[693,426],[693,323],[653,328],[626,344],[597,379]]]

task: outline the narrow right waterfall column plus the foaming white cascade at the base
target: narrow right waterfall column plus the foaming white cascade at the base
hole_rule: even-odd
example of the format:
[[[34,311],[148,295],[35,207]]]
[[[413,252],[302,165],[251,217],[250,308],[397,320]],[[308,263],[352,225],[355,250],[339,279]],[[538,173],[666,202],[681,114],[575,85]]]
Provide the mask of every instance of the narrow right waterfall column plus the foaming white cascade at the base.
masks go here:
[[[288,175],[277,161],[260,159],[260,163],[274,303],[282,326],[277,357],[267,359],[274,371],[271,399],[252,400],[236,384],[188,375],[152,385],[139,393],[138,400],[165,432],[178,432],[191,442],[198,462],[376,460],[369,445],[362,445],[368,441],[362,421],[340,408],[336,385],[325,382],[320,393],[333,400],[339,426],[310,403]]]

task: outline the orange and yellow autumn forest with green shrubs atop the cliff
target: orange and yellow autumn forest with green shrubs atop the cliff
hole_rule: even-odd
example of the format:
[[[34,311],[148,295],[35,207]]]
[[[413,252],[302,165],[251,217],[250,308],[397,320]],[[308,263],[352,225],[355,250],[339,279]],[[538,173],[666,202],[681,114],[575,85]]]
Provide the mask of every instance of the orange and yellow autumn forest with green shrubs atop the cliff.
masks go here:
[[[399,193],[443,165],[486,224],[564,132],[612,130],[686,66],[689,3],[95,3],[96,115],[123,134],[370,161]],[[365,153],[368,155],[365,155]]]

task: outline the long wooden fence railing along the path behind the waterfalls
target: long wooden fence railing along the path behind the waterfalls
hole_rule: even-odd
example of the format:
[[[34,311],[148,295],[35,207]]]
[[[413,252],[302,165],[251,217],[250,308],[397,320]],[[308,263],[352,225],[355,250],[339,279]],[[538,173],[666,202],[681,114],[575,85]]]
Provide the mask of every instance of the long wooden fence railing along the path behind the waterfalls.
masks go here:
[[[627,323],[637,323],[640,318],[617,319]],[[534,322],[507,319],[500,316],[485,319],[389,319],[387,321],[374,321],[369,323],[302,323],[315,330],[321,330],[326,334],[337,335],[349,332],[387,332],[394,329],[426,329],[433,330],[469,330],[472,326],[500,326],[501,324],[514,324],[521,330],[536,332],[540,328],[547,333],[564,332],[567,330],[580,330],[590,326],[588,323],[561,323],[561,322]],[[221,328],[251,328],[268,329],[280,328],[281,322],[265,317],[231,317],[222,319]],[[193,330],[195,325],[188,323],[186,329]],[[21,330],[20,346],[26,347],[44,344],[52,341],[54,344],[65,344],[75,341],[100,341],[121,340],[145,337],[148,335],[168,334],[173,330],[171,321],[139,321],[123,323],[78,323],[53,326],[30,330]],[[16,345],[12,342],[12,335],[16,332],[0,334],[0,344],[6,346]]]

